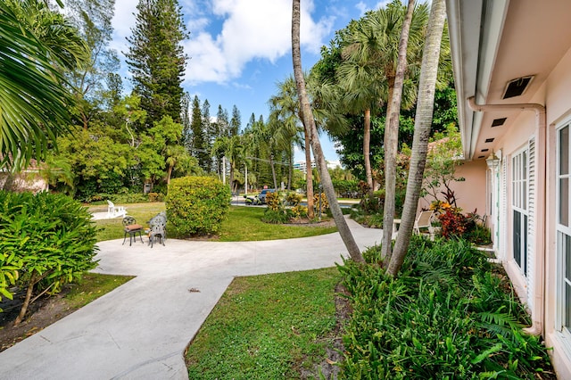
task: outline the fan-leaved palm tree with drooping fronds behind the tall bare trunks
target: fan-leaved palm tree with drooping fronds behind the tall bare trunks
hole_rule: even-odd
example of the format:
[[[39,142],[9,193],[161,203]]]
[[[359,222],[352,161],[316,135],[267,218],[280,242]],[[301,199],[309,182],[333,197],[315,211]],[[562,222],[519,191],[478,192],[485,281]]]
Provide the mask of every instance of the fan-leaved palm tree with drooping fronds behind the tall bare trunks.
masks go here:
[[[410,21],[410,49],[407,53],[407,74],[412,75],[418,66],[418,46],[421,46],[426,25],[427,8],[421,4],[414,10]],[[368,12],[360,21],[352,21],[342,41],[342,63],[337,70],[337,81],[345,94],[343,101],[352,112],[363,112],[363,158],[369,192],[373,178],[370,163],[371,112],[390,102],[397,77],[395,58],[407,8],[394,1],[386,8]],[[410,15],[409,15],[410,16]],[[406,48],[406,45],[405,45]],[[406,50],[405,50],[406,51]],[[405,62],[406,64],[406,62]],[[404,105],[410,107],[416,94],[407,87]],[[399,107],[400,109],[400,107]]]

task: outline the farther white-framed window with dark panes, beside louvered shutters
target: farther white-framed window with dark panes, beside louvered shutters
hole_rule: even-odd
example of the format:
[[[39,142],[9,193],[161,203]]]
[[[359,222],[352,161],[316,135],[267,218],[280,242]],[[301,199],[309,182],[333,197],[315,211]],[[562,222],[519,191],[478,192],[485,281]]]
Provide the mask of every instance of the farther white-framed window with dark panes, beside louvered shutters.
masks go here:
[[[527,149],[511,159],[511,209],[514,260],[527,276]]]

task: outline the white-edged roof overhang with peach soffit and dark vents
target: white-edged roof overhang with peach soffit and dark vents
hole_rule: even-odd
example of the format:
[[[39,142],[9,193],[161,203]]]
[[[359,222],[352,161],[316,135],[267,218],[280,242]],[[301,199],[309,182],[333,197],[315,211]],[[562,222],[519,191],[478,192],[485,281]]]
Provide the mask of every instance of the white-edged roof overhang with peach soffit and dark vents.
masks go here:
[[[517,110],[473,112],[476,103],[530,103],[571,47],[571,1],[446,0],[464,157],[484,159],[513,126]],[[507,83],[534,76],[525,93],[503,99]],[[535,103],[542,103],[534,99]],[[506,118],[492,128],[493,120]]]

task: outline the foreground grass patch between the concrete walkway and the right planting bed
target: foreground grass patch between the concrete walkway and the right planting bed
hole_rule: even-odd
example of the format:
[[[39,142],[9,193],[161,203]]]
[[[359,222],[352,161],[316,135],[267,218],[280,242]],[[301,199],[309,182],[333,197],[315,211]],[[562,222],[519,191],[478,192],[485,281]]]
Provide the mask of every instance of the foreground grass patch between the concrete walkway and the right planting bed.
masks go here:
[[[337,268],[237,277],[186,353],[192,379],[290,379],[326,356]]]

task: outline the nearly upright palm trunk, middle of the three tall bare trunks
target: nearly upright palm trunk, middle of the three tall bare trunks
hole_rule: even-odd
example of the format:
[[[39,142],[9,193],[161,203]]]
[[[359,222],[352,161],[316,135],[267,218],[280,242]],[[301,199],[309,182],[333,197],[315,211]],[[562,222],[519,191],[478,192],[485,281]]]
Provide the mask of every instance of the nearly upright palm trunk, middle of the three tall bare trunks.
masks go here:
[[[385,210],[383,214],[383,245],[381,254],[385,265],[391,260],[394,194],[396,190],[396,154],[399,144],[399,117],[401,115],[402,85],[404,70],[407,66],[407,47],[409,45],[410,22],[414,11],[414,0],[409,0],[407,15],[402,21],[401,40],[399,41],[399,57],[394,76],[393,96],[390,98],[385,127]]]

